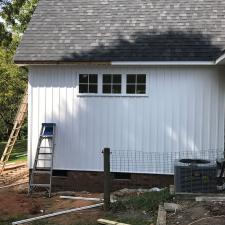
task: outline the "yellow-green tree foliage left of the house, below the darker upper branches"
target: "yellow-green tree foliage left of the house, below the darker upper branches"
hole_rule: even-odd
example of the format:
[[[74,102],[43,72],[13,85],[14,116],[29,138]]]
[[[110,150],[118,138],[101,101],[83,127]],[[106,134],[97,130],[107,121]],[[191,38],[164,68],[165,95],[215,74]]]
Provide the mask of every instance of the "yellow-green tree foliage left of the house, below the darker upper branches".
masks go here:
[[[27,72],[13,63],[16,43],[9,48],[0,48],[0,138],[3,139],[13,126],[21,97],[23,96]]]

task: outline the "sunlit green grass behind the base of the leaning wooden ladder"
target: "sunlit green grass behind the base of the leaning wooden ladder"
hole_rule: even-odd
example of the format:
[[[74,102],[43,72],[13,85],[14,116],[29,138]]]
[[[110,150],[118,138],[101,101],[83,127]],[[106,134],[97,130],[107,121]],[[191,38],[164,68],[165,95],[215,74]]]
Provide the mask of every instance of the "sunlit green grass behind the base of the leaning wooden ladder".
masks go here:
[[[0,142],[0,157],[4,151],[6,142]],[[12,154],[10,155],[9,162],[16,162],[16,161],[26,161],[27,156],[27,140],[19,140],[16,142]]]

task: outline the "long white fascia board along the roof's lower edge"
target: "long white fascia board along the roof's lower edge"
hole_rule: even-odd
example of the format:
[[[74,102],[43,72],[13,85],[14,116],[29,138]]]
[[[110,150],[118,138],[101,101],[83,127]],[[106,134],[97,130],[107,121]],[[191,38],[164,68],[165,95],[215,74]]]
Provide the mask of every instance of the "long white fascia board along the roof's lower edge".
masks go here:
[[[112,66],[213,66],[214,61],[113,61]]]

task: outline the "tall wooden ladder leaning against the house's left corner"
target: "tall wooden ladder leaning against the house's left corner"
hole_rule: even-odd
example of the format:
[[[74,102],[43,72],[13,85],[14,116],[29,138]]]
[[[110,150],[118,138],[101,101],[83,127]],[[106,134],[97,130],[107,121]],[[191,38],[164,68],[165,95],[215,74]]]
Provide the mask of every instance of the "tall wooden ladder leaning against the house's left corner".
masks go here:
[[[19,135],[20,129],[23,125],[23,122],[26,118],[28,111],[28,91],[25,91],[25,94],[22,98],[22,101],[20,103],[20,106],[18,108],[13,129],[11,131],[11,134],[9,136],[8,142],[5,146],[4,152],[2,154],[1,160],[0,160],[0,176],[2,175],[4,168],[6,166],[6,163],[9,160],[10,154],[13,150],[13,147],[16,143],[17,137]]]

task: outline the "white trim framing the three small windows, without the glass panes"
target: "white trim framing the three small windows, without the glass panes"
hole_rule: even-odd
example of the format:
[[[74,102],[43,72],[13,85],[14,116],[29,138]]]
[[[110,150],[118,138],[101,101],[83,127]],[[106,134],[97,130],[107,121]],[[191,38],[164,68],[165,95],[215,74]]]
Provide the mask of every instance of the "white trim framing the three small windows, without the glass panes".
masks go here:
[[[146,74],[146,93],[145,94],[127,94],[126,93],[127,73],[112,73],[112,74],[121,74],[122,76],[121,93],[118,93],[118,94],[102,93],[103,74],[106,74],[106,73],[96,73],[98,75],[98,93],[79,93],[79,74],[81,73],[77,73],[77,86],[78,86],[77,96],[78,97],[148,97],[149,96],[149,89],[150,89],[149,87],[150,74],[149,73],[140,73],[140,74]],[[139,74],[139,73],[134,73],[134,74]]]

